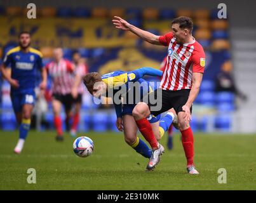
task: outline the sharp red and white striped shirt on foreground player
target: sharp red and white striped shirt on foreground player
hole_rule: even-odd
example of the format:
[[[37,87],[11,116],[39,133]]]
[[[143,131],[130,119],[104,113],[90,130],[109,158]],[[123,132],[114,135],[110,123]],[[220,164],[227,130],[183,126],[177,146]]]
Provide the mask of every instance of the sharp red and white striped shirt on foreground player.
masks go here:
[[[192,73],[205,70],[205,51],[195,39],[186,44],[177,44],[175,39],[172,32],[159,37],[159,42],[168,46],[160,88],[172,91],[191,89]]]

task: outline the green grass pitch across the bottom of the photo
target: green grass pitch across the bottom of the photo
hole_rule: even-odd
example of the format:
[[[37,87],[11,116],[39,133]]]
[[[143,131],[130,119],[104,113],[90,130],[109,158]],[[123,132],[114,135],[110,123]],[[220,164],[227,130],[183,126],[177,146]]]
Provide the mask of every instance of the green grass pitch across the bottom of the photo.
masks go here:
[[[84,135],[84,134],[79,134]],[[17,132],[0,131],[1,190],[256,190],[256,135],[195,134],[199,175],[185,171],[179,135],[152,172],[147,159],[126,145],[121,133],[86,133],[95,143],[91,157],[72,151],[73,139],[55,141],[54,132],[31,131],[22,154],[13,154]],[[166,137],[161,141],[166,146]],[[36,184],[27,169],[36,169]],[[219,168],[227,184],[219,184]]]

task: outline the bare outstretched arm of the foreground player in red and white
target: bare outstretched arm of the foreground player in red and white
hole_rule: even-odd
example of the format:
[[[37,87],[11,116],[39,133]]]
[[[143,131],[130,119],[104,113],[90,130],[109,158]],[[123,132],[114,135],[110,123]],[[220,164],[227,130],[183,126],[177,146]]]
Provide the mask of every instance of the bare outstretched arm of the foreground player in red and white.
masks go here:
[[[148,43],[156,44],[156,45],[163,45],[159,43],[159,37],[151,32],[147,32],[145,30],[139,29],[138,27],[131,25],[130,23],[123,20],[119,16],[114,16],[115,19],[112,20],[113,24],[116,26],[117,29],[121,30],[130,30],[133,34],[136,34],[138,37],[144,39]]]

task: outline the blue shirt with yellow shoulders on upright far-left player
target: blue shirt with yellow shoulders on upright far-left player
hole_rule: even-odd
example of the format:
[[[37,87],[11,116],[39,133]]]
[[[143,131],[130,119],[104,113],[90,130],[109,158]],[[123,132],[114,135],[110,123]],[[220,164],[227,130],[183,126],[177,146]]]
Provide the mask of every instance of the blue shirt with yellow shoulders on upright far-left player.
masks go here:
[[[24,93],[36,87],[37,69],[43,69],[42,58],[42,53],[34,48],[24,52],[17,46],[8,51],[4,66],[11,68],[11,78],[19,83],[18,88],[11,88],[11,93]]]

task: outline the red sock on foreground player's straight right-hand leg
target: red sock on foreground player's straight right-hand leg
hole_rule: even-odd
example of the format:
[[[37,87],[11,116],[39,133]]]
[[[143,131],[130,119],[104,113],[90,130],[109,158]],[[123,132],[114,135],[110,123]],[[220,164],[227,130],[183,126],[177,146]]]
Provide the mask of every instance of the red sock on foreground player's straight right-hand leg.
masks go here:
[[[184,131],[180,131],[182,134],[182,145],[187,158],[187,166],[194,164],[194,138],[192,129],[189,127]]]

